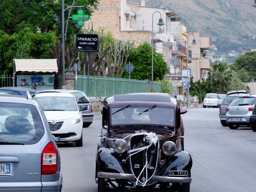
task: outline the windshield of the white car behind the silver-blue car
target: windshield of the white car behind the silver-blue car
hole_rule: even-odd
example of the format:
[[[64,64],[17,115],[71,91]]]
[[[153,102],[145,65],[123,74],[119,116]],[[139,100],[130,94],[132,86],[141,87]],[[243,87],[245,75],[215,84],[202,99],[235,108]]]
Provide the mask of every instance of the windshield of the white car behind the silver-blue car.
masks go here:
[[[74,97],[46,96],[36,97],[44,111],[77,111]]]

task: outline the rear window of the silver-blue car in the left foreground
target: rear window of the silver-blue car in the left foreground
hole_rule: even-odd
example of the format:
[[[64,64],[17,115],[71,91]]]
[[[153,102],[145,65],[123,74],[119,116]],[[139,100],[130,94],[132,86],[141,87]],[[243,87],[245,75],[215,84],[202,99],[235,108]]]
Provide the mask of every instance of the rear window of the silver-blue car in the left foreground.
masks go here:
[[[34,144],[44,134],[44,126],[35,106],[0,103],[0,143]]]

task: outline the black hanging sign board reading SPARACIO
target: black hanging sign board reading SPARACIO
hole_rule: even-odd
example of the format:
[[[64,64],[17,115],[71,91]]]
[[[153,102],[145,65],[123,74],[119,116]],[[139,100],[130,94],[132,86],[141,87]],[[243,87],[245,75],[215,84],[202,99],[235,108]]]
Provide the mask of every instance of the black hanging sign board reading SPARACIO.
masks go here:
[[[76,50],[97,52],[99,49],[99,36],[96,34],[76,34]]]

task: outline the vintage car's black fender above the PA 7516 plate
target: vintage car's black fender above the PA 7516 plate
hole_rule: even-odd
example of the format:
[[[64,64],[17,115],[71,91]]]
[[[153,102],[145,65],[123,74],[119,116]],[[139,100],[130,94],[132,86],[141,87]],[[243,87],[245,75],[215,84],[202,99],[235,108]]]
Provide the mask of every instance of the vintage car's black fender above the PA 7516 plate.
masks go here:
[[[163,169],[161,176],[168,176],[169,170],[190,171],[192,168],[192,157],[186,151],[180,151],[170,158],[170,162]]]

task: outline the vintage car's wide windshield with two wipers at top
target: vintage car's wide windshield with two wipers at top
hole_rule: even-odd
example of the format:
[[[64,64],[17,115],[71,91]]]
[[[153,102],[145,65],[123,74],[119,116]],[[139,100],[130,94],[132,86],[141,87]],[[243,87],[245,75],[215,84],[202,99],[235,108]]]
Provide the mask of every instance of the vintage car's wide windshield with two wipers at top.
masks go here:
[[[114,107],[111,109],[111,114],[112,125],[150,124],[162,125],[162,127],[174,126],[175,117],[174,109],[172,108],[160,108],[156,106]]]

